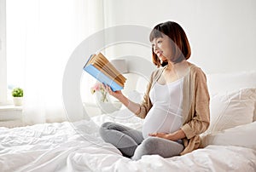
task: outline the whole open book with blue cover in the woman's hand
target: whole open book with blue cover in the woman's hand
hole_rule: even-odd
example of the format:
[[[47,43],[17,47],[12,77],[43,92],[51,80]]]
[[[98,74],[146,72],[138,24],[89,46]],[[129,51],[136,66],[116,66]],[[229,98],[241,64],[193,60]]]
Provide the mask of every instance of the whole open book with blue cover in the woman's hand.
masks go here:
[[[84,71],[99,82],[107,84],[113,91],[124,89],[126,78],[102,54],[92,54],[84,66]]]

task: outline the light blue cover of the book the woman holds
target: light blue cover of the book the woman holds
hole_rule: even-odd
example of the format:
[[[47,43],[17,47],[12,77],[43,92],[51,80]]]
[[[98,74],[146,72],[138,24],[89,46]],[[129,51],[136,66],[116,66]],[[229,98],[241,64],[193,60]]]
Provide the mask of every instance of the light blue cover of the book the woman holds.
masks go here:
[[[93,55],[90,56],[90,58]],[[96,80],[98,80],[101,83],[107,84],[113,91],[124,89],[121,85],[114,82],[113,79],[105,75],[103,72],[101,72],[99,69],[96,68],[96,66],[93,66],[93,64],[88,64],[89,60],[86,62],[84,66],[84,71],[88,72],[92,77],[95,77]]]

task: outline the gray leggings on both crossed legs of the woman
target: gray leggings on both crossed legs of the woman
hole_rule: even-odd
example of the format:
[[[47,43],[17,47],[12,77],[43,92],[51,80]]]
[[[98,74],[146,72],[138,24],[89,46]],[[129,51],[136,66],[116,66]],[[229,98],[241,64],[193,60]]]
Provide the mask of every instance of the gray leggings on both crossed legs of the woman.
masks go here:
[[[148,137],[143,133],[118,123],[103,123],[100,128],[102,139],[117,147],[125,157],[137,160],[143,155],[158,154],[163,158],[171,158],[183,151],[183,144],[159,137]]]

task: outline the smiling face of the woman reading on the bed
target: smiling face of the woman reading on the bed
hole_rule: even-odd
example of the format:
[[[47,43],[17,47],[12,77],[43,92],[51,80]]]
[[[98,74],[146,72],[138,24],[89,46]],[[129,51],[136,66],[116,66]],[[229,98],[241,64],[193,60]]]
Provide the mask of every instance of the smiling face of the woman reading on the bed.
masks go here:
[[[153,39],[152,48],[154,49],[154,54],[158,56],[160,61],[171,60],[172,56],[172,45],[170,37],[162,34],[163,37],[156,37]]]

